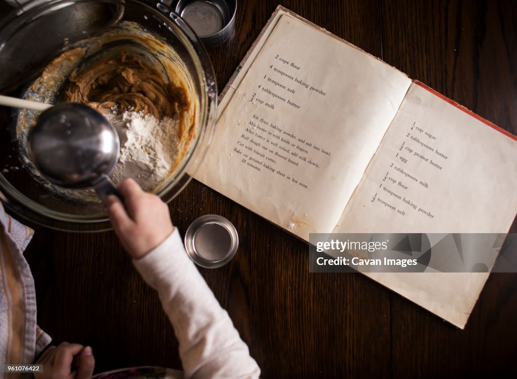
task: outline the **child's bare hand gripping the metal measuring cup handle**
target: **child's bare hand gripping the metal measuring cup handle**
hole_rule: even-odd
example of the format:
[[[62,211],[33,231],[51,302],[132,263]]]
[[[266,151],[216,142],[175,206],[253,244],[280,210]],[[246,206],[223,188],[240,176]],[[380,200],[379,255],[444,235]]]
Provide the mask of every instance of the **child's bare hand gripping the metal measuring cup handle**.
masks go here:
[[[122,181],[118,190],[124,204],[116,196],[108,197],[111,224],[129,254],[139,259],[173,232],[169,208],[158,196],[144,192],[133,179]]]

